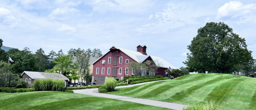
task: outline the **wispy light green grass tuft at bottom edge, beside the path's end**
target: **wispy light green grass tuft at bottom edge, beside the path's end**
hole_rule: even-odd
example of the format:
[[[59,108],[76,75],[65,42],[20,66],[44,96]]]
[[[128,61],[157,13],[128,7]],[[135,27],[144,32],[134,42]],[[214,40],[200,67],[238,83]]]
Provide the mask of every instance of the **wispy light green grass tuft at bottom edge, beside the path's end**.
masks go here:
[[[182,110],[220,110],[220,102],[216,102],[215,100],[210,100],[210,102],[206,102],[205,104],[193,104],[188,105],[187,107],[183,107]]]

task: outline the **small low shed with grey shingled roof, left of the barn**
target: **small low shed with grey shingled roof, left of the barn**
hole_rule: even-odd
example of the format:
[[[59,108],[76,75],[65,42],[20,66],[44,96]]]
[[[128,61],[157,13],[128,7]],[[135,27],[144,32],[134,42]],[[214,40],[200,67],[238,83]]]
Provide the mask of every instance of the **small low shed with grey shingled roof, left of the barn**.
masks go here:
[[[52,79],[56,79],[56,80],[63,79],[66,82],[69,81],[69,79],[61,73],[45,73],[45,72],[36,72],[36,71],[24,71],[21,74],[21,76],[26,82],[28,82],[28,84],[32,84],[35,79],[47,79],[47,78],[52,78]]]

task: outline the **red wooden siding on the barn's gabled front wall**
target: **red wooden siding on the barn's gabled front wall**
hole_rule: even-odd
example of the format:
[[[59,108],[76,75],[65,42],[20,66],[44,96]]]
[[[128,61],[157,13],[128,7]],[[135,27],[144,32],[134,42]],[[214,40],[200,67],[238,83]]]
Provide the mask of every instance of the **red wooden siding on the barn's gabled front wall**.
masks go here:
[[[118,51],[118,52],[116,52]],[[111,63],[108,63],[108,57],[111,57]],[[113,57],[117,57],[117,65],[113,66]],[[119,63],[119,57],[122,57],[122,63]],[[105,64],[102,64],[102,60],[105,60]],[[124,77],[124,70],[127,68],[125,65],[127,65],[126,60],[129,60],[129,62],[134,62],[132,58],[130,58],[125,53],[121,52],[120,50],[111,50],[110,52],[106,53],[102,58],[100,58],[98,61],[96,61],[93,64],[93,71],[92,76],[112,76],[112,68],[117,68],[117,74],[116,77]],[[99,68],[99,74],[96,74],[96,68]],[[102,68],[105,68],[105,73],[101,74]],[[110,74],[107,74],[107,68],[111,68]],[[122,68],[122,74],[119,74],[119,68]],[[131,76],[132,72],[128,71],[128,75]]]

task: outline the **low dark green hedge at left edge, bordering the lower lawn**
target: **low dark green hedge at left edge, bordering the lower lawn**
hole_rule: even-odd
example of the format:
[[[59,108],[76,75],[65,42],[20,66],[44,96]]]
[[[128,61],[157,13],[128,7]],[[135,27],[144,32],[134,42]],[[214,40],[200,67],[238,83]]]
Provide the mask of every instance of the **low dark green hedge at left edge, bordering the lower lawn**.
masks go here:
[[[35,91],[35,89],[30,88],[30,89],[15,89],[14,87],[1,87],[0,92],[8,92],[8,93],[14,93],[14,92],[32,92]]]

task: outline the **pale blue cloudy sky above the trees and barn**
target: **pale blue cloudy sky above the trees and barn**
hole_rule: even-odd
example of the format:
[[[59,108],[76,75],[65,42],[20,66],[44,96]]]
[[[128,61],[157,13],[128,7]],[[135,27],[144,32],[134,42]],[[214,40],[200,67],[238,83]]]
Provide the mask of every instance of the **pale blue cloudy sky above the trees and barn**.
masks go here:
[[[112,45],[185,66],[187,45],[207,22],[224,22],[256,51],[256,0],[1,0],[3,45],[35,52]],[[253,52],[253,57],[256,53]]]

